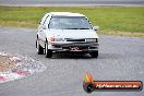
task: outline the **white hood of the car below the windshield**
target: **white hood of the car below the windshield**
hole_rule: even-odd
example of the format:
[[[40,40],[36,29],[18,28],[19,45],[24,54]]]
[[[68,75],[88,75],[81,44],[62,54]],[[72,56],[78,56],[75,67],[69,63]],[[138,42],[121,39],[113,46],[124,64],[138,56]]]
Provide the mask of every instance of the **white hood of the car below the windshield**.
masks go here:
[[[98,38],[93,29],[49,29],[47,36],[59,38]]]

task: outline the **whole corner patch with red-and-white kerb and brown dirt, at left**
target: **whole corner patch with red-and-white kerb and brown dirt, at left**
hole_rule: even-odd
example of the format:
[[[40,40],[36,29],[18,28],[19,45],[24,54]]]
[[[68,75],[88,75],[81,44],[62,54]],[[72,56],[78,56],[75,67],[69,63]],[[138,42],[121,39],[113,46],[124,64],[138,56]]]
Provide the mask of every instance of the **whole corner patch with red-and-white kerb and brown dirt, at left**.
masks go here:
[[[0,83],[22,79],[44,70],[46,67],[34,59],[0,52]]]

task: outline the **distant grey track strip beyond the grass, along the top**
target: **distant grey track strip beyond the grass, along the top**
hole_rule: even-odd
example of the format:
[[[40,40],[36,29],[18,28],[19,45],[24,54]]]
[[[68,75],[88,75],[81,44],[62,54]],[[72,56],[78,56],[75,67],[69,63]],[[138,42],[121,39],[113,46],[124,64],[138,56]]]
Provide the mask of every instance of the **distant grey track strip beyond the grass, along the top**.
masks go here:
[[[144,0],[0,0],[0,5],[144,5]]]

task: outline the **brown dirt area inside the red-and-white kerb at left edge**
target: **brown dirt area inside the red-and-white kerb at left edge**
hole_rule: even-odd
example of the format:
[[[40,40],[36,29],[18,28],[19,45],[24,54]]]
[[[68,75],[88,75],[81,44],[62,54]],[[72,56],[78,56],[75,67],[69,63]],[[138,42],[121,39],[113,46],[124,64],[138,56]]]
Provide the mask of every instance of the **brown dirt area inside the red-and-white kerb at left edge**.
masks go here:
[[[12,61],[8,56],[0,55],[0,72],[13,70],[16,67],[16,62]]]

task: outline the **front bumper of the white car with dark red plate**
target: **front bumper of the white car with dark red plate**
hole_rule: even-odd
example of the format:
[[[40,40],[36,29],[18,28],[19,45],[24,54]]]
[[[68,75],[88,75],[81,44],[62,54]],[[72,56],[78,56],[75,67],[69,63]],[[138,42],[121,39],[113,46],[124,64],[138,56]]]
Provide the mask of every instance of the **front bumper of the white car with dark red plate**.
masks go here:
[[[56,52],[93,52],[98,50],[98,43],[50,43],[48,49]]]

